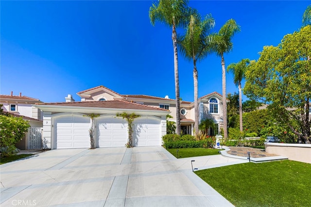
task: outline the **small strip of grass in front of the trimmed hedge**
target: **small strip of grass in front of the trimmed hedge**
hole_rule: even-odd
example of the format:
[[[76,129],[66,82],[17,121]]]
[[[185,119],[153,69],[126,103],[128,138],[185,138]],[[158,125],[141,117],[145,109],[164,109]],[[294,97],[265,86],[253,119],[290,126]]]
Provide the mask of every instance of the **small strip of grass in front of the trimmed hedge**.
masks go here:
[[[208,149],[208,148],[178,148],[178,149],[166,149],[169,151],[175,158],[177,158],[176,151],[178,150],[178,158],[191,158],[198,156],[207,156],[207,155],[219,155],[219,149]]]

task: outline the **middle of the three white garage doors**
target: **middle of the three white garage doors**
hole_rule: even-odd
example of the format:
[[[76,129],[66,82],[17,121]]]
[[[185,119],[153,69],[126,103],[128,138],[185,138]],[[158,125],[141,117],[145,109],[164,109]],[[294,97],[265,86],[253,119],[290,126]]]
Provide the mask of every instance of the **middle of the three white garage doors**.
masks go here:
[[[98,147],[124,147],[127,143],[127,122],[122,118],[103,117],[96,120]]]

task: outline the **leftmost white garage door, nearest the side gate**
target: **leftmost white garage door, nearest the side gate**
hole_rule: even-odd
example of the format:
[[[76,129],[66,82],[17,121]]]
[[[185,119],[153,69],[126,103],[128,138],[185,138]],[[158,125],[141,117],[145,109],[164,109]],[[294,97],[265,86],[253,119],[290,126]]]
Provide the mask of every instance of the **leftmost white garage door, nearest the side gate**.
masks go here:
[[[68,115],[54,119],[56,149],[89,148],[90,118]]]

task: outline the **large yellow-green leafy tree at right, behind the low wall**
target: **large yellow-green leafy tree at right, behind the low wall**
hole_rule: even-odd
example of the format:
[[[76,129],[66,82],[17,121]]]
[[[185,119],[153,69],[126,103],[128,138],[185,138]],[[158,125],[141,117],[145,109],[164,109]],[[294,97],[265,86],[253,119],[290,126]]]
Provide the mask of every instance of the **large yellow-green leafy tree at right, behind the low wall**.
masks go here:
[[[246,96],[268,103],[277,122],[290,127],[298,142],[310,143],[311,25],[285,35],[277,47],[265,46],[245,77]]]

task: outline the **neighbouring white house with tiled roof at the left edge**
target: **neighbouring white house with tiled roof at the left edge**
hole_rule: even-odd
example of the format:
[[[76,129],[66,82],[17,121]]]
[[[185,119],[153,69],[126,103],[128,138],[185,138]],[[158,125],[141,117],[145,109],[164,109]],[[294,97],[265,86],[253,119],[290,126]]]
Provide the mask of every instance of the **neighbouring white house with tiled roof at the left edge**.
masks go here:
[[[28,96],[21,96],[21,93],[19,93],[19,96],[14,96],[13,92],[11,92],[11,95],[0,95],[3,112],[22,117],[22,119],[29,122],[31,127],[42,127],[43,113],[40,109],[32,106],[35,103],[42,103],[42,101]],[[16,144],[17,148],[21,150],[32,148],[29,146],[30,142],[28,142],[29,133]]]

